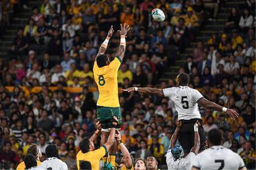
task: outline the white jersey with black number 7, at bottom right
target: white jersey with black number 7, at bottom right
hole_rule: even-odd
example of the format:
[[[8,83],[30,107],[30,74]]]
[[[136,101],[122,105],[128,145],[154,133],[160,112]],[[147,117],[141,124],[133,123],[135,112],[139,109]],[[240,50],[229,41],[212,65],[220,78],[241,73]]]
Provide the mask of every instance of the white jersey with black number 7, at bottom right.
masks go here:
[[[241,169],[244,161],[240,155],[224,146],[212,146],[196,155],[193,161],[196,169]]]

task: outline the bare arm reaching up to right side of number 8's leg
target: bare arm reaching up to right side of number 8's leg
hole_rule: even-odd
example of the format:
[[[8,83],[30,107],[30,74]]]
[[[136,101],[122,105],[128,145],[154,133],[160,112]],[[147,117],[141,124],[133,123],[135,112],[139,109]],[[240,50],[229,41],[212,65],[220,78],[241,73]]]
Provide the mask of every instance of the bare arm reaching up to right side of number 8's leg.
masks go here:
[[[132,168],[132,158],[130,157],[129,151],[126,148],[126,146],[124,146],[124,144],[121,141],[121,134],[118,131],[118,133],[115,135],[116,140],[118,141],[118,144],[120,146],[121,152],[124,156],[124,163],[126,165],[127,169],[131,169]]]

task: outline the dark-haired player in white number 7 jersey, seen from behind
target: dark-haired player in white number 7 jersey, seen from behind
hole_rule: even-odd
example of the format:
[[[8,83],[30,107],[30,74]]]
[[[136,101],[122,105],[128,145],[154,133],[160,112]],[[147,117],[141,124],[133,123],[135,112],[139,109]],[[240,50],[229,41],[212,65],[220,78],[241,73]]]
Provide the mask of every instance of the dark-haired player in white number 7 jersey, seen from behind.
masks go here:
[[[240,155],[230,149],[221,146],[222,134],[219,129],[212,129],[208,132],[209,149],[196,155],[193,161],[193,170],[197,169],[243,169],[244,161]]]

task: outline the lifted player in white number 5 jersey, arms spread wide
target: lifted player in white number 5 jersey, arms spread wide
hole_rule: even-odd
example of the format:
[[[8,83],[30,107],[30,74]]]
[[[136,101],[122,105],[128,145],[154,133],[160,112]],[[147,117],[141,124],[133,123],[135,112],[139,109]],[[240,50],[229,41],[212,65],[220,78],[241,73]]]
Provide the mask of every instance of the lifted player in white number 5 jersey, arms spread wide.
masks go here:
[[[178,120],[182,121],[182,128],[179,132],[179,141],[185,152],[190,152],[193,146],[194,131],[193,126],[196,121],[202,124],[201,114],[198,109],[198,104],[204,107],[209,107],[217,111],[226,112],[232,119],[238,117],[238,113],[233,109],[219,106],[212,101],[208,101],[202,94],[196,90],[188,87],[190,83],[190,76],[187,73],[180,73],[177,78],[177,87],[167,89],[154,89],[150,87],[130,87],[124,89],[125,92],[140,92],[143,94],[154,94],[160,97],[168,97],[174,102],[174,106],[178,112]],[[199,135],[201,148],[204,150],[205,133],[204,128],[199,126]]]

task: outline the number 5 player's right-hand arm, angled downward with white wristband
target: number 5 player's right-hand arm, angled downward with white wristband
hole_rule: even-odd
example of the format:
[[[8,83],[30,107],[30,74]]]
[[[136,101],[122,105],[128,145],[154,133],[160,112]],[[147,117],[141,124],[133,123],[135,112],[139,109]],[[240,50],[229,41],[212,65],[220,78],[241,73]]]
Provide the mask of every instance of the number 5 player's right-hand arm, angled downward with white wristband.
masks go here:
[[[212,101],[208,101],[206,98],[201,98],[200,100],[197,101],[197,103],[200,104],[201,106],[208,107],[219,112],[226,112],[233,120],[235,120],[239,116],[236,110],[219,106],[219,104],[216,104]]]

